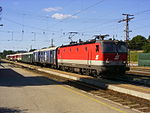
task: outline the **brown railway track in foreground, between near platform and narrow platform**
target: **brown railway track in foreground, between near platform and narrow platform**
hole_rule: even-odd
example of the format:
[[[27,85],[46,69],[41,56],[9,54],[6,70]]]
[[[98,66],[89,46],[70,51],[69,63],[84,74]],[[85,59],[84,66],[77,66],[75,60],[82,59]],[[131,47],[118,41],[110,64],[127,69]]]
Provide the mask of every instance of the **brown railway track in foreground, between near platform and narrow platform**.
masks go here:
[[[13,66],[14,65],[12,65],[12,67]],[[18,67],[18,66],[15,65],[14,67]],[[39,72],[37,70],[31,70],[29,68],[26,68],[26,69],[30,71],[35,71],[37,73],[41,73],[43,76],[46,76],[49,79],[55,80],[59,84],[65,84],[65,85],[68,85],[69,87],[80,89],[81,91],[88,93],[90,95],[94,95],[98,98],[107,99],[109,101],[123,105],[125,107],[131,108],[139,112],[144,112],[144,113],[150,112],[150,102],[146,99],[141,99],[138,97],[127,95],[124,93],[115,92],[112,90],[104,90],[97,86],[87,84],[87,83],[82,83],[80,81],[74,81],[68,78],[63,78],[63,77],[59,77],[55,75],[49,76],[49,74]]]

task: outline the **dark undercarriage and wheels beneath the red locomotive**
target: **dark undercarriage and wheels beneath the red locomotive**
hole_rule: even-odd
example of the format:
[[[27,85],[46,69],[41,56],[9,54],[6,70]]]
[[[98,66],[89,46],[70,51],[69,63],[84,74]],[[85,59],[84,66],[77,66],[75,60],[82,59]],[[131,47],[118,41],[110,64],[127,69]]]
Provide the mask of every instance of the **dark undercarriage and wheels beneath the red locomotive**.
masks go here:
[[[71,64],[72,65],[72,64]],[[61,64],[58,65],[58,69],[68,72],[79,73],[83,75],[89,75],[96,78],[110,78],[114,79],[119,76],[123,76],[127,70],[129,70],[126,65],[122,66],[89,66],[89,65],[74,65]]]

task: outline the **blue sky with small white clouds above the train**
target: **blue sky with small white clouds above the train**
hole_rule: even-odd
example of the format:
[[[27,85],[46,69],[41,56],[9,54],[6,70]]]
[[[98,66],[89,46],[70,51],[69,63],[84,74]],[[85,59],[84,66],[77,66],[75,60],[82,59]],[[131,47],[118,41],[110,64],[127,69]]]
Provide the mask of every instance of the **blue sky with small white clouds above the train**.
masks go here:
[[[133,14],[130,38],[150,35],[149,0],[0,0],[0,51],[29,50],[69,43],[73,40],[109,34],[124,40],[122,13]]]

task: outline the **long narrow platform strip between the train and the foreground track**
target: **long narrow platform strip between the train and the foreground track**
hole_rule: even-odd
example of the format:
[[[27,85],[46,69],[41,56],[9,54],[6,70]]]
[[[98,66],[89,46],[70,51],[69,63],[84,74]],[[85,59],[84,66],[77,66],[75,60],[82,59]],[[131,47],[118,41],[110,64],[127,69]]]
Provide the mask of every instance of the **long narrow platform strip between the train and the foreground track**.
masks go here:
[[[71,80],[77,80],[77,81],[81,81],[84,83],[92,84],[103,89],[110,89],[110,90],[114,90],[117,92],[121,92],[121,93],[129,94],[132,96],[136,96],[139,98],[150,100],[150,88],[148,87],[136,86],[132,84],[116,82],[116,81],[111,81],[111,80],[101,80],[101,79],[93,78],[91,76],[79,75],[75,73],[69,73],[69,72],[54,70],[54,69],[45,68],[45,67],[41,68],[39,66],[34,66],[34,65],[24,64],[24,63],[12,62],[12,61],[7,61],[7,60],[3,60],[3,61],[13,63],[16,65],[20,65],[26,68],[38,70],[40,72],[45,72],[48,74],[65,77]]]

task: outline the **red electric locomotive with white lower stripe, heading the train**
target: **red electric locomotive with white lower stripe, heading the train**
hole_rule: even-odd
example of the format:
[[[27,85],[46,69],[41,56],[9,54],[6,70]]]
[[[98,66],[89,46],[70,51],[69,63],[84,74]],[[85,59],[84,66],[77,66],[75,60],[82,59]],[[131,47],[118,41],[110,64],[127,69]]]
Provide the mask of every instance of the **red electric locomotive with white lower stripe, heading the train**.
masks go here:
[[[87,42],[60,46],[58,68],[104,78],[114,78],[127,70],[127,45],[98,36]]]

